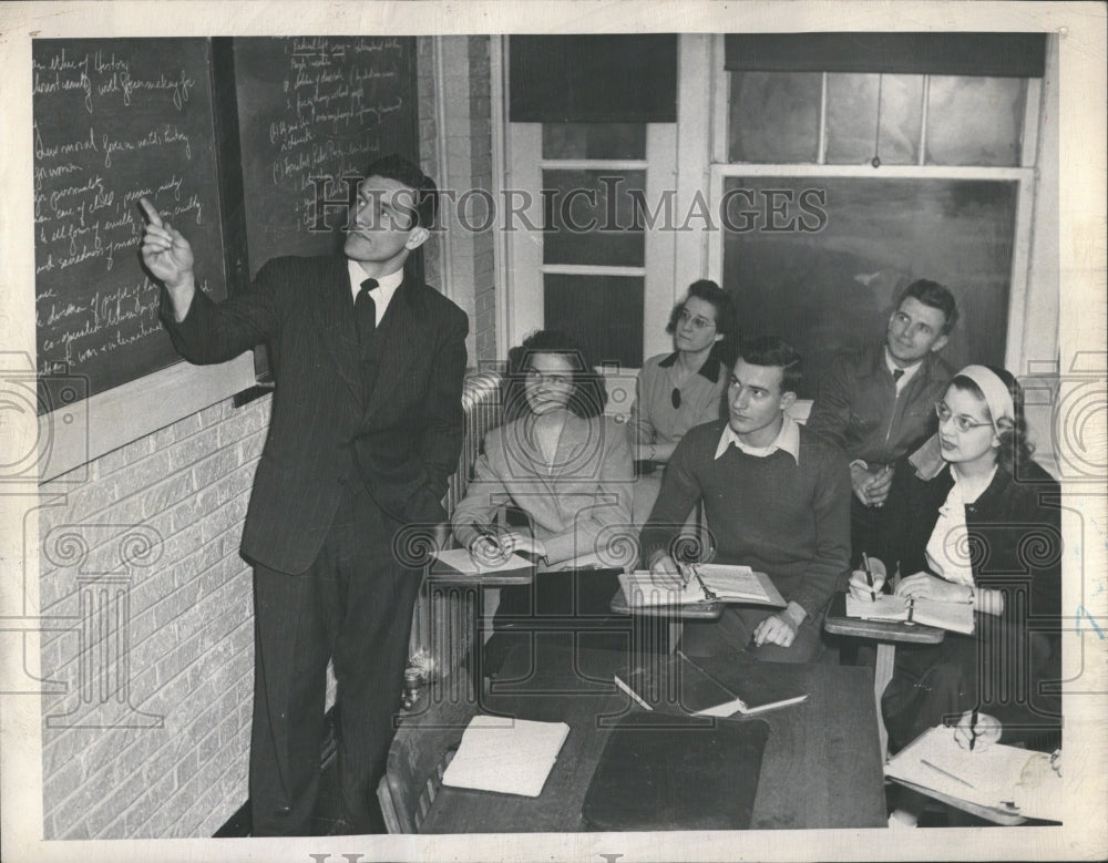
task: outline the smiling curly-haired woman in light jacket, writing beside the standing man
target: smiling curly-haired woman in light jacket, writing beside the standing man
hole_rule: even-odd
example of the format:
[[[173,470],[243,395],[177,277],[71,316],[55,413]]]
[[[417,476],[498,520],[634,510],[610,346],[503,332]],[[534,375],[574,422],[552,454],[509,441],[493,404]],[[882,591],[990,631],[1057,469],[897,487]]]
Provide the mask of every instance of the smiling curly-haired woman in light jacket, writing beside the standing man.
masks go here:
[[[540,330],[510,352],[505,383],[505,423],[485,435],[451,516],[454,537],[480,562],[513,552],[537,562],[534,586],[501,590],[501,620],[607,614],[619,566],[634,559],[637,544],[630,448],[624,429],[603,415],[603,379],[570,337]],[[514,524],[505,523],[505,505]],[[486,648],[486,672],[499,666],[504,639],[500,645]]]

